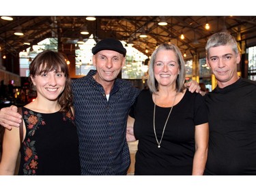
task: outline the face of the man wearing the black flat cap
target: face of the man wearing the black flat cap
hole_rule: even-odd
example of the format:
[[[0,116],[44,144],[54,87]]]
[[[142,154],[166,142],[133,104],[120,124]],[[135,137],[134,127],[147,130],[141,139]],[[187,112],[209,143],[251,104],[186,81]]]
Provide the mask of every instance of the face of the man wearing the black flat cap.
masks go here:
[[[96,82],[100,84],[113,83],[126,62],[123,54],[113,50],[101,50],[93,56],[96,67]]]

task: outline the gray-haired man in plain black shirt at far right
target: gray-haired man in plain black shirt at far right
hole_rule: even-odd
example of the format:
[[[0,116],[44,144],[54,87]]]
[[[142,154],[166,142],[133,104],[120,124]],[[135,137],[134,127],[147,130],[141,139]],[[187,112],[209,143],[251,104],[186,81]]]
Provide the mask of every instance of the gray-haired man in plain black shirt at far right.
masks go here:
[[[205,95],[210,139],[205,175],[256,175],[256,83],[238,76],[240,52],[229,33],[205,46],[218,86]]]

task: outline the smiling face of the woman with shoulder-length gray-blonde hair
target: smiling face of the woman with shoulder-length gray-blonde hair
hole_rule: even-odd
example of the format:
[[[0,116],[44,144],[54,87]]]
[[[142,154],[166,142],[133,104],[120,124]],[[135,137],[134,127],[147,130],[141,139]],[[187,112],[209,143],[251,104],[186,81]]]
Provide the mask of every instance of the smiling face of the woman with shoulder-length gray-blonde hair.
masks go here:
[[[179,64],[177,56],[173,50],[160,50],[156,54],[154,62],[154,77],[158,82],[158,87],[171,86],[175,88],[177,75],[179,74]]]

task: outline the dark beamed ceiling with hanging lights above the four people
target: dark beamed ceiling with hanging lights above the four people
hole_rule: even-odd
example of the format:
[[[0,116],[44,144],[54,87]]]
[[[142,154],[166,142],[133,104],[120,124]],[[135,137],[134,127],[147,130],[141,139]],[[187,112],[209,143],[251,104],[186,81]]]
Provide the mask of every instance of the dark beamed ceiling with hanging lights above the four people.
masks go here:
[[[227,30],[238,41],[246,45],[256,44],[256,16],[96,16],[88,21],[86,16],[14,16],[14,20],[0,19],[0,46],[2,52],[18,55],[29,46],[23,42],[27,39],[31,45],[47,37],[58,37],[62,44],[76,44],[79,37],[84,41],[92,33],[97,40],[115,37],[119,40],[133,41],[134,48],[141,52],[149,50],[150,56],[156,46],[163,42],[176,44],[187,58],[204,54],[205,43],[210,35]],[[166,26],[158,25],[165,18]],[[205,23],[210,29],[205,29]],[[87,27],[89,35],[81,35],[81,29]],[[23,36],[14,35],[21,27]],[[141,38],[141,33],[147,33]],[[181,34],[185,35],[180,39]]]

